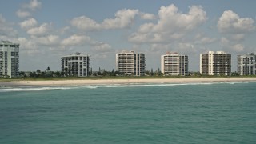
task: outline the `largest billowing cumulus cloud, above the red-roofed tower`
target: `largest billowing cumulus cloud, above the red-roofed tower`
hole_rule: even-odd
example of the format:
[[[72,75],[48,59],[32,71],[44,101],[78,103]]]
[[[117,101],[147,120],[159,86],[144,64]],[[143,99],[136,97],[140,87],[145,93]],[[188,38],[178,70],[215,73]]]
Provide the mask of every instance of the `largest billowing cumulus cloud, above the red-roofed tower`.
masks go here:
[[[206,12],[202,6],[190,6],[187,14],[183,14],[173,4],[161,6],[158,11],[158,22],[145,23],[129,38],[130,42],[166,42],[182,38],[190,30],[206,22]]]

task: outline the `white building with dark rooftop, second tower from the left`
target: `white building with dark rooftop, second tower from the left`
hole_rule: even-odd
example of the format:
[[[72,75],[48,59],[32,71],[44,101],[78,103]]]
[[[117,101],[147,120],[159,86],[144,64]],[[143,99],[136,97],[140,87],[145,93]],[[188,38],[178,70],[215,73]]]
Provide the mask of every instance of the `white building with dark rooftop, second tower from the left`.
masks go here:
[[[87,77],[90,72],[90,55],[74,53],[62,57],[62,72],[66,76]]]

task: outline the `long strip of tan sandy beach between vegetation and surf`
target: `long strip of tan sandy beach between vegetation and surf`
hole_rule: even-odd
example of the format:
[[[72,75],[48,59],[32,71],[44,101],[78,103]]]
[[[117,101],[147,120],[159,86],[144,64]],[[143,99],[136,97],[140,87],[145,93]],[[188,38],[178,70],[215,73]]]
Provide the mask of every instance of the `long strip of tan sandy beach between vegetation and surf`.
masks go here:
[[[131,78],[0,82],[0,86],[74,86],[129,83],[256,82],[256,78]]]

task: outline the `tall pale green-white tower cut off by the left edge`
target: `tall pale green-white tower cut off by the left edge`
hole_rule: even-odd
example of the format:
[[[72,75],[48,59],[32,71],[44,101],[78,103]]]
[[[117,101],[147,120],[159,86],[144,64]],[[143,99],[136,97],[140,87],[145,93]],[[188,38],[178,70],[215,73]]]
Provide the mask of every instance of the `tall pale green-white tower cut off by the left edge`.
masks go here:
[[[0,77],[18,77],[19,44],[0,41]]]

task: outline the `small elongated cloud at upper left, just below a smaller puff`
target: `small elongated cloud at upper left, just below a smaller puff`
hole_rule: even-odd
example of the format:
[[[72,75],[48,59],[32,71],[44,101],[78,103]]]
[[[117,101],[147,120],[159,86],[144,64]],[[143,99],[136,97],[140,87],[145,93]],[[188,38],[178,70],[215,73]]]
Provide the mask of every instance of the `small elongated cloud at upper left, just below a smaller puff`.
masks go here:
[[[48,23],[43,23],[41,26],[33,27],[30,30],[27,30],[27,33],[32,36],[42,36],[50,32],[51,25]]]

